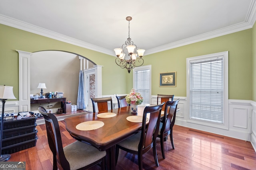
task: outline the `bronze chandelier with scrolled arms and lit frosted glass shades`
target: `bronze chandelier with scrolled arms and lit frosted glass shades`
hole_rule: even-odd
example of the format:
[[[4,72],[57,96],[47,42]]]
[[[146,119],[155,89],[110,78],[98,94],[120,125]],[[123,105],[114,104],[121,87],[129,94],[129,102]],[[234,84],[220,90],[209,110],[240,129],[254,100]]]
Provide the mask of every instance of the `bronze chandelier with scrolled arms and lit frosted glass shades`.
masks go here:
[[[129,21],[127,41],[125,41],[122,47],[116,48],[114,51],[117,56],[116,64],[121,68],[126,68],[128,73],[130,73],[132,68],[141,66],[144,63],[142,57],[145,50],[139,49],[135,44],[133,44],[133,41],[130,38],[130,21],[132,20],[132,17],[126,17],[126,20]]]

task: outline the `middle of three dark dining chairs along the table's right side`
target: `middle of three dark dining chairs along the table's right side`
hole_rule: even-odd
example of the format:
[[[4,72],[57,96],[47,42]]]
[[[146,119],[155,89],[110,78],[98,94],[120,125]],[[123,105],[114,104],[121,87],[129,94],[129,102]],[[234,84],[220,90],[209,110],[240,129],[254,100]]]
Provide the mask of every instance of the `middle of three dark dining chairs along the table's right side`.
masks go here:
[[[173,143],[173,137],[172,137],[172,128],[175,123],[175,118],[176,118],[176,110],[177,110],[177,105],[180,99],[175,100],[175,101],[167,101],[165,104],[165,111],[164,111],[164,117],[162,118],[163,121],[160,122],[159,126],[159,131],[157,137],[160,138],[160,143],[161,143],[161,151],[162,151],[162,156],[165,159],[165,154],[164,154],[164,141],[167,140],[168,135],[170,134],[170,141],[172,144],[172,149],[174,148],[174,143]]]

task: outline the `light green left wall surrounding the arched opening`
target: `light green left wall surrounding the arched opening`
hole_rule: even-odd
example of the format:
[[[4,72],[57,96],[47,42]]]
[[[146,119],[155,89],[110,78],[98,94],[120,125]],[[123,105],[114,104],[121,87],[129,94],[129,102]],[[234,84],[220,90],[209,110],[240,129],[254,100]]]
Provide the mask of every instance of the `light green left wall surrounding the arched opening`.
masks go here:
[[[102,95],[126,93],[127,79],[124,76],[126,72],[116,65],[116,57],[2,24],[0,24],[0,30],[0,85],[14,86],[16,98],[18,98],[19,61],[18,52],[15,50],[27,52],[62,50],[82,55],[103,66]],[[40,66],[40,63],[37,66]],[[36,71],[36,66],[33,66],[33,68]]]

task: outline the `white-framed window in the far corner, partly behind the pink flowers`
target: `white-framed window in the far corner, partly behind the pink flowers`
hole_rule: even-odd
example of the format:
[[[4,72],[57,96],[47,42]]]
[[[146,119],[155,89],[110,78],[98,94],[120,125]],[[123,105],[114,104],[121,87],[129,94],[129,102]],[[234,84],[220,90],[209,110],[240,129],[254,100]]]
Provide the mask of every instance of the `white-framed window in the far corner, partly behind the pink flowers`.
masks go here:
[[[143,97],[143,104],[150,104],[151,65],[134,68],[133,80],[133,87]]]

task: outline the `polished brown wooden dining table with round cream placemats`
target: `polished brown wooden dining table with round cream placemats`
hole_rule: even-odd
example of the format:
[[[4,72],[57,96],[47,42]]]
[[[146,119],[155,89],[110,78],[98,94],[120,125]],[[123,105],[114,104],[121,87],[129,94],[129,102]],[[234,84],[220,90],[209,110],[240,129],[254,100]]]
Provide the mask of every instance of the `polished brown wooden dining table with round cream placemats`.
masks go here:
[[[108,110],[104,113],[86,113],[84,115],[64,119],[70,135],[98,150],[106,150],[106,165],[108,169],[116,169],[115,145],[141,131],[142,115],[145,106],[138,107],[137,113],[131,113],[130,106]],[[105,117],[102,115],[106,115]],[[111,115],[108,116],[108,115]],[[128,118],[141,117],[135,122]],[[85,123],[85,124],[84,124]],[[99,127],[90,127],[90,123],[100,123]]]

